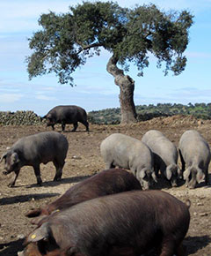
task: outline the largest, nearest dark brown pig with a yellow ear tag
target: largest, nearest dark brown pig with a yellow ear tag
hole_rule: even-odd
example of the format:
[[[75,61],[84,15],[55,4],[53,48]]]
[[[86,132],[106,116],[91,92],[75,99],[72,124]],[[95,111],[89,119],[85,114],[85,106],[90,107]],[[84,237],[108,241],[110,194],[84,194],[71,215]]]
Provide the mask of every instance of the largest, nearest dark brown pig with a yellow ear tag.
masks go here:
[[[184,255],[189,206],[167,192],[133,191],[88,200],[52,214],[26,238],[41,255]],[[31,254],[22,254],[31,255]]]

